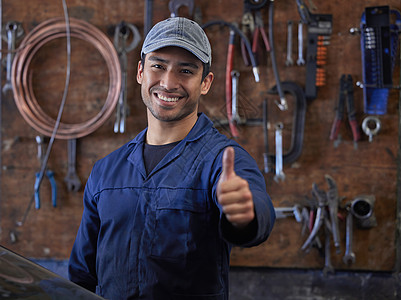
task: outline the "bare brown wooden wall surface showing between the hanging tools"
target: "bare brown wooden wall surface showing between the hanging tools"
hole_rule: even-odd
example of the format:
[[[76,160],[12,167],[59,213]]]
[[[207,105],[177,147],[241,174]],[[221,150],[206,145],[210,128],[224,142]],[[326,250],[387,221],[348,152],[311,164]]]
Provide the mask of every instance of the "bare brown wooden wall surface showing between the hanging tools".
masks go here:
[[[108,34],[112,39],[112,28],[121,21],[133,23],[143,35],[145,1],[67,1],[71,17],[85,20]],[[154,21],[169,16],[167,0],[154,1]],[[195,1],[202,12],[203,22],[222,19],[227,22],[241,22],[242,1]],[[305,1],[309,5],[308,1]],[[357,195],[370,194],[376,198],[375,215],[377,226],[371,229],[354,230],[354,251],[356,262],[347,266],[342,262],[345,249],[345,221],[340,221],[340,255],[332,249],[335,269],[391,271],[396,263],[396,173],[398,151],[398,92],[392,90],[388,100],[387,114],[380,116],[382,129],[368,142],[362,134],[358,149],[354,148],[350,130],[346,122],[342,125],[342,142],[334,147],[329,139],[338,98],[341,74],[351,74],[355,81],[362,80],[360,38],[349,34],[351,27],[358,27],[361,14],[366,6],[383,4],[382,1],[314,1],[313,13],[332,14],[333,32],[328,46],[326,84],[318,89],[317,98],[308,101],[301,156],[292,164],[284,166],[286,179],[275,182],[273,173],[265,174],[268,192],[274,205],[293,206],[305,203],[311,197],[313,183],[326,189],[325,174],[330,174],[337,182],[343,204]],[[397,0],[387,1],[391,8],[401,9]],[[285,66],[287,21],[294,25],[299,21],[295,1],[275,1],[275,44],[279,73],[282,81],[293,81],[305,85],[304,66]],[[25,34],[39,23],[53,17],[63,17],[62,2],[50,0],[3,1],[3,24],[19,21]],[[187,14],[187,11],[181,11]],[[268,9],[262,10],[265,29],[268,24]],[[209,117],[224,119],[224,77],[228,29],[213,27],[207,29],[213,48],[215,82],[210,93],[201,100],[201,110]],[[294,27],[293,58],[297,56],[296,26]],[[7,45],[3,41],[3,49]],[[77,171],[83,183],[87,180],[96,160],[120,145],[134,138],[145,126],[145,107],[140,98],[140,88],[136,83],[136,66],[139,59],[138,46],[128,55],[128,103],[130,114],[127,131],[113,132],[114,114],[94,133],[78,140]],[[5,57],[5,55],[3,55]],[[65,41],[56,40],[46,44],[35,56],[33,88],[36,98],[46,113],[56,118],[62,98],[65,74]],[[234,68],[240,72],[240,114],[248,118],[262,118],[262,102],[268,99],[271,124],[284,123],[284,147],[290,147],[294,99],[288,96],[290,109],[282,112],[274,101],[276,95],[267,91],[275,84],[270,57],[262,57],[261,82],[255,83],[250,67],[245,66],[236,46]],[[399,74],[399,63],[396,66]],[[3,83],[5,73],[3,72]],[[106,75],[105,75],[106,74]],[[398,82],[399,75],[395,75]],[[86,42],[72,40],[71,86],[63,121],[81,122],[96,114],[103,105],[107,94],[107,68],[101,55]],[[362,90],[355,87],[355,105],[359,125],[365,117],[363,113]],[[48,167],[55,172],[58,185],[56,208],[51,206],[50,186],[45,179],[41,187],[40,210],[31,208],[23,226],[15,226],[20,221],[30,202],[38,171],[37,145],[32,129],[21,117],[12,95],[2,97],[2,170],[1,170],[1,232],[0,243],[28,257],[66,259],[69,257],[75,234],[82,214],[83,188],[69,192],[64,183],[67,172],[67,142],[56,140],[50,155]],[[226,128],[222,132],[229,135]],[[269,131],[270,152],[274,153],[274,130]],[[261,126],[240,127],[238,142],[242,144],[263,168],[263,129]],[[344,213],[344,211],[341,211]],[[324,257],[316,250],[309,253],[300,250],[306,235],[301,235],[301,224],[294,218],[277,220],[271,237],[264,244],[251,248],[235,248],[232,253],[234,266],[267,266],[274,268],[322,268]],[[10,238],[15,234],[16,241]]]

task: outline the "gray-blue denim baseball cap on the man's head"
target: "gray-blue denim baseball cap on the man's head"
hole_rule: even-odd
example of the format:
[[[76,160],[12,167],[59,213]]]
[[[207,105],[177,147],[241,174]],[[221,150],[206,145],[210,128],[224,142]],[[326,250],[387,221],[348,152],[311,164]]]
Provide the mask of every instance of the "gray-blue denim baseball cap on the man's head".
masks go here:
[[[195,21],[175,17],[157,23],[143,42],[141,56],[168,46],[184,48],[203,63],[211,65],[212,50],[209,39]]]

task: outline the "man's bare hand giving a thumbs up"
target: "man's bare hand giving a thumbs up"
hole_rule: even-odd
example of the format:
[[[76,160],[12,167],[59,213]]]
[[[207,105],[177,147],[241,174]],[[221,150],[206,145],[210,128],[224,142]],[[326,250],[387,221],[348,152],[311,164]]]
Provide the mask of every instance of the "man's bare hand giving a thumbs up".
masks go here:
[[[234,148],[223,154],[223,171],[217,184],[217,200],[227,220],[237,228],[244,228],[254,218],[252,192],[248,182],[234,171]]]

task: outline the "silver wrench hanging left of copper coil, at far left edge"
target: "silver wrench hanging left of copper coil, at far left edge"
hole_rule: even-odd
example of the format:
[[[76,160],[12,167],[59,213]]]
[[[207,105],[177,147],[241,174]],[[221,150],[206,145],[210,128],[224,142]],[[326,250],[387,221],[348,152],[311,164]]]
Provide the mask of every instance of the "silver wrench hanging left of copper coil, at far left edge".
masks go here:
[[[3,39],[7,42],[8,51],[7,51],[7,71],[6,71],[6,83],[3,86],[3,94],[6,94],[7,91],[12,90],[11,84],[11,68],[13,65],[14,55],[15,55],[15,44],[16,41],[22,37],[24,34],[24,29],[21,26],[21,23],[11,21],[8,22],[5,27],[6,32],[2,33]]]

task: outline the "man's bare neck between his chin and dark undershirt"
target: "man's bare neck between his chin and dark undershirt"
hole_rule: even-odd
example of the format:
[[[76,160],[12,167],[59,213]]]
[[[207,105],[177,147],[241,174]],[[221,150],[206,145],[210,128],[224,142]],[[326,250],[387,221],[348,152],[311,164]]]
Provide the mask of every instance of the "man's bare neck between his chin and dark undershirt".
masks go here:
[[[157,120],[148,111],[148,130],[146,143],[165,145],[183,140],[198,120],[197,112],[179,121],[164,122]]]

